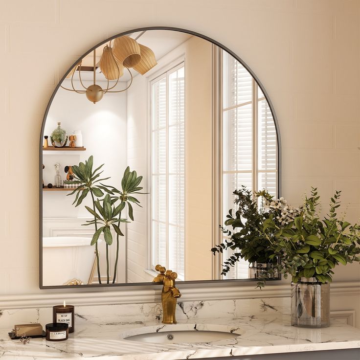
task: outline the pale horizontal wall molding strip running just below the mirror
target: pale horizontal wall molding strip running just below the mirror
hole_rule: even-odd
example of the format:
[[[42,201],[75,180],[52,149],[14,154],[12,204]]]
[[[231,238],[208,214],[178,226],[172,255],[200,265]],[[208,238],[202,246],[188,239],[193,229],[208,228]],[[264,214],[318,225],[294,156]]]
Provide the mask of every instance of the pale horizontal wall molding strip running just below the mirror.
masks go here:
[[[160,286],[152,285],[146,289],[134,289],[135,287],[102,289],[93,292],[67,292],[54,291],[53,293],[2,295],[0,298],[0,309],[19,309],[19,308],[45,308],[53,306],[55,303],[62,303],[66,300],[73,305],[108,305],[108,304],[138,304],[153,303],[160,301]],[[202,300],[229,300],[229,299],[250,299],[250,298],[270,298],[270,297],[289,297],[290,285],[267,285],[264,290],[255,289],[251,285],[232,285],[232,286],[211,286],[200,287],[199,284],[190,284],[185,288],[179,285],[182,293],[182,301],[202,301]],[[86,289],[84,289],[86,290]],[[105,291],[105,292],[104,292]],[[331,284],[331,296],[359,296],[360,282],[341,282]],[[340,316],[341,317],[341,316]]]

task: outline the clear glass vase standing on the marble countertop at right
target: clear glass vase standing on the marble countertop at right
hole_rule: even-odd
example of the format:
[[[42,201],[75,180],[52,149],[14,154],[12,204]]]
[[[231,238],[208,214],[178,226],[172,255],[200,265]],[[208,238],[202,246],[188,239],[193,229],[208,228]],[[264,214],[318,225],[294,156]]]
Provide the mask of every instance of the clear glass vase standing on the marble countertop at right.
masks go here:
[[[330,325],[330,284],[322,284],[315,277],[291,283],[291,324],[302,328]]]

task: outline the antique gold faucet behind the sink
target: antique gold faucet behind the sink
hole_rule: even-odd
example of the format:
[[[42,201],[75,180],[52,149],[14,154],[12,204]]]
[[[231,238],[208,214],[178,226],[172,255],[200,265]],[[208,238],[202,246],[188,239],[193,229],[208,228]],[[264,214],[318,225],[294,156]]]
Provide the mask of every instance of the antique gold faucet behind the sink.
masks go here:
[[[161,303],[162,303],[162,323],[163,324],[176,324],[175,310],[177,298],[181,296],[178,288],[175,287],[175,279],[178,274],[172,270],[167,270],[157,265],[155,270],[159,274],[154,278],[153,282],[162,283]]]

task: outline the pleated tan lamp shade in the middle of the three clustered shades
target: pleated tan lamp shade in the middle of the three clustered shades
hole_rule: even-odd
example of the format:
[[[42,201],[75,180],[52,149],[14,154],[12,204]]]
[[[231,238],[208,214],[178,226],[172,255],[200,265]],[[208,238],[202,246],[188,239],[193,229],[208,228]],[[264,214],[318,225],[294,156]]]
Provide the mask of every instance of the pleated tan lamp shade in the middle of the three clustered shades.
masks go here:
[[[114,40],[112,53],[124,67],[135,67],[141,60],[139,44],[125,35]]]

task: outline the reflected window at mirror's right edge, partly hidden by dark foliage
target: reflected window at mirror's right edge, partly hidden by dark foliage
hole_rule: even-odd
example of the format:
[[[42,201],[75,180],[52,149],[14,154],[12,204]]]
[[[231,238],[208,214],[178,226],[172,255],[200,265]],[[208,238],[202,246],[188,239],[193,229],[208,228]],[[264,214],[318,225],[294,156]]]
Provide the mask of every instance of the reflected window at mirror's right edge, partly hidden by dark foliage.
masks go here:
[[[234,205],[232,192],[246,185],[277,196],[277,136],[270,106],[248,70],[223,51],[222,56],[222,219]],[[225,238],[223,239],[225,240]],[[223,258],[231,255],[227,252]],[[241,260],[225,279],[248,278]]]

